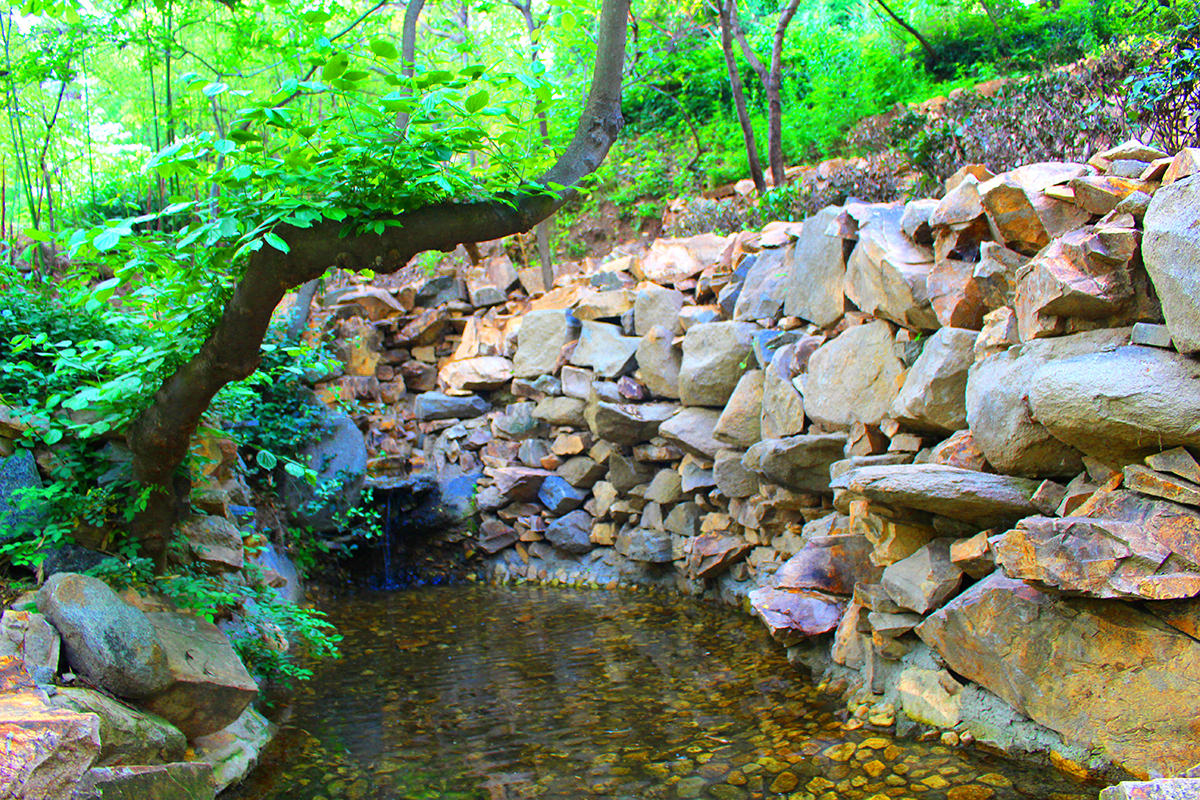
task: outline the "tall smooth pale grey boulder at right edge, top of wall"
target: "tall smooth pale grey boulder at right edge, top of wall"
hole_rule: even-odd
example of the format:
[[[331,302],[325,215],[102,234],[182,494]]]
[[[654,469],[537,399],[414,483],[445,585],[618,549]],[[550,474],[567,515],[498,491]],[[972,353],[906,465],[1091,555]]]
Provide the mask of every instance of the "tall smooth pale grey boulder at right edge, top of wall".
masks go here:
[[[1146,264],[1171,341],[1181,353],[1200,350],[1200,175],[1154,192],[1142,219],[1141,258]]]

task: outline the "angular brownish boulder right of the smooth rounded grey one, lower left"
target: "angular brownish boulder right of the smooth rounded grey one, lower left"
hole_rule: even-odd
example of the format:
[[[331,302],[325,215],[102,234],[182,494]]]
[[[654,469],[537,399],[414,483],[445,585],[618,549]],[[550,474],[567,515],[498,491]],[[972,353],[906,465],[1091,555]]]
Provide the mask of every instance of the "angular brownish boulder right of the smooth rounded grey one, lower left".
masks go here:
[[[143,708],[188,739],[221,730],[258,694],[258,685],[216,625],[188,614],[157,612],[145,618],[167,654],[166,688],[140,698]]]

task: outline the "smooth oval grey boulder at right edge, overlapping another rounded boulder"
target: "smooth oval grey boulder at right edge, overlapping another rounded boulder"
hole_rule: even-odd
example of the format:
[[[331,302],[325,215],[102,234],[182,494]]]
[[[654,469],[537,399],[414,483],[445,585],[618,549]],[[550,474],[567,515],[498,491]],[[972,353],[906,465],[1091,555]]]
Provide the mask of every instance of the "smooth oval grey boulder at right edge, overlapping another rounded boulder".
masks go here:
[[[1028,397],[1051,435],[1111,465],[1200,445],[1200,362],[1170,350],[1058,359],[1033,373]]]

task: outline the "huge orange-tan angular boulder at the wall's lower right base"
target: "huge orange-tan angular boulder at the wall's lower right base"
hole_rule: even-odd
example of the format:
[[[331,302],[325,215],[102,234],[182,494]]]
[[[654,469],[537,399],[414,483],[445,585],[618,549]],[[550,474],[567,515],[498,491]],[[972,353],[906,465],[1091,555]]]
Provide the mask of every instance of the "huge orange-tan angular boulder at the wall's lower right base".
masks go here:
[[[992,573],[917,634],[955,673],[1134,775],[1200,762],[1200,642],[1132,604],[1055,597]]]

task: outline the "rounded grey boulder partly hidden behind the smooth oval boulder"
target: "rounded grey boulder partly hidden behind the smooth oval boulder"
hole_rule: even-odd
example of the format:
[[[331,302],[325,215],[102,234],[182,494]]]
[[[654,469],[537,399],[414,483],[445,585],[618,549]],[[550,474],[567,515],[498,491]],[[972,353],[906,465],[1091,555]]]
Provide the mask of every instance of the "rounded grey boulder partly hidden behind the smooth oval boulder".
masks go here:
[[[967,425],[976,445],[998,471],[1026,477],[1078,475],[1079,451],[1033,419],[1030,390],[1044,363],[1124,344],[1128,329],[1037,339],[989,356],[967,377]]]

